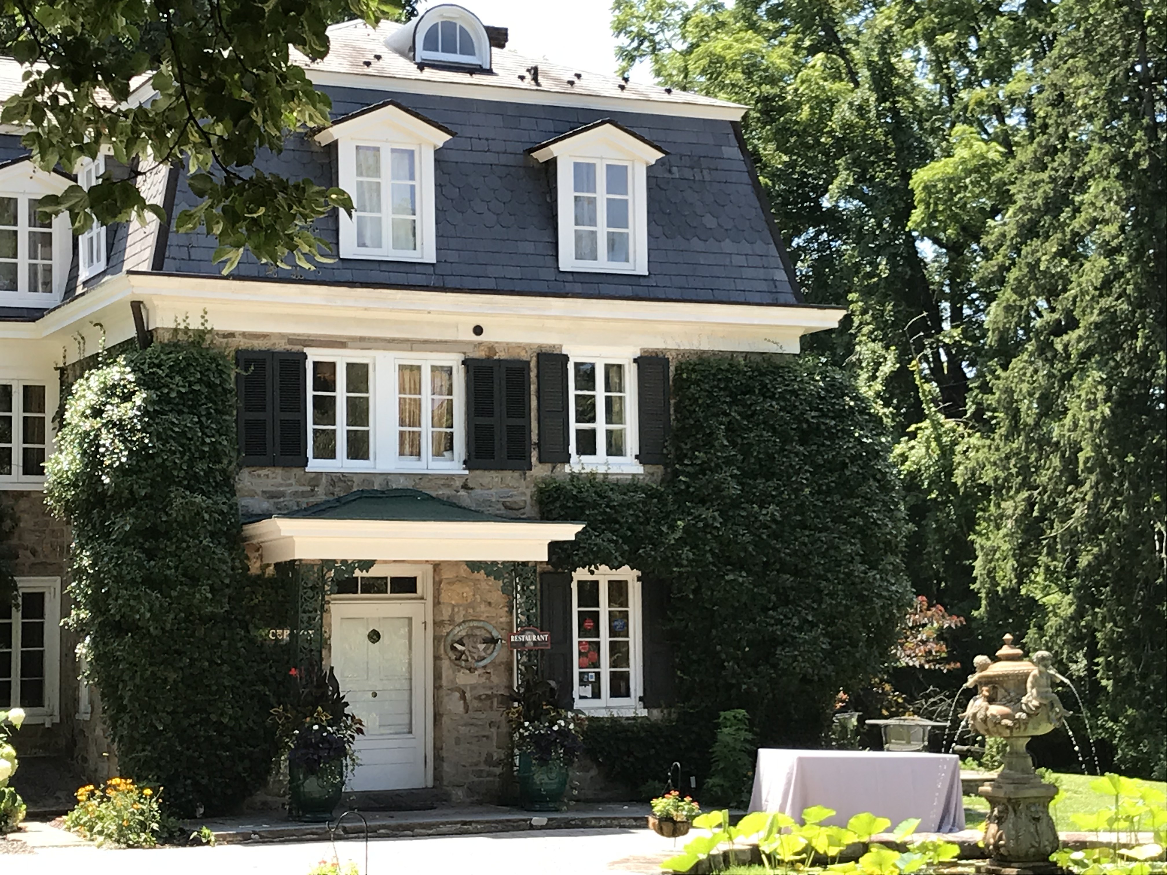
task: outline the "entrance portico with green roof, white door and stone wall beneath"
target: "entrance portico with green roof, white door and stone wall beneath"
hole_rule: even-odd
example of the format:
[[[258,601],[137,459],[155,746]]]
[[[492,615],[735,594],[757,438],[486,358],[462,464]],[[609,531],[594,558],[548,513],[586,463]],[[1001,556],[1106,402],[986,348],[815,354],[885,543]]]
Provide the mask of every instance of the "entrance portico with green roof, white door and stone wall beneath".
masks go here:
[[[456,791],[501,770],[509,653],[499,642],[497,658],[477,665],[447,652],[447,638],[467,625],[513,628],[513,594],[480,564],[546,561],[551,541],[582,527],[503,519],[408,489],[350,492],[244,526],[265,565],[343,568],[326,575],[326,635],[313,640],[365,728],[349,790]]]

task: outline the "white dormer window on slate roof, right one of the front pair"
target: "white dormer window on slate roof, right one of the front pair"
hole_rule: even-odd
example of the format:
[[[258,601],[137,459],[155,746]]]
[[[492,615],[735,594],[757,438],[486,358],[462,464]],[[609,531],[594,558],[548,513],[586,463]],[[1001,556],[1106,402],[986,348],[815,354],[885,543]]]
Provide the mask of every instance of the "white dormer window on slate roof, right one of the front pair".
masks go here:
[[[664,149],[601,120],[527,149],[555,160],[559,270],[649,272],[648,166]]]

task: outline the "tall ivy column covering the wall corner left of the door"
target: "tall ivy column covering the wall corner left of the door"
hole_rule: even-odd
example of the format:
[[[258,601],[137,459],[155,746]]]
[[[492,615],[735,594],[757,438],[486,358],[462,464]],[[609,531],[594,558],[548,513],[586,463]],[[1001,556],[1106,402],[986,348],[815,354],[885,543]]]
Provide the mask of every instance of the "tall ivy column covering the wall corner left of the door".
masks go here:
[[[72,614],[124,774],[179,812],[266,778],[274,668],[249,625],[235,371],[197,338],[72,386],[46,498],[72,526]]]

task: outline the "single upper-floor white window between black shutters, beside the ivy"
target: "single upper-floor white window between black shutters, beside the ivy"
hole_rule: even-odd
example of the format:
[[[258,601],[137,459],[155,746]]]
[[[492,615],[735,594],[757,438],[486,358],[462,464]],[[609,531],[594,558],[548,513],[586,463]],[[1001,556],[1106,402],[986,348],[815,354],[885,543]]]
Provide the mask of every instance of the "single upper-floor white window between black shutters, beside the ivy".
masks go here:
[[[636,374],[633,358],[571,352],[572,466],[616,471],[641,470]]]

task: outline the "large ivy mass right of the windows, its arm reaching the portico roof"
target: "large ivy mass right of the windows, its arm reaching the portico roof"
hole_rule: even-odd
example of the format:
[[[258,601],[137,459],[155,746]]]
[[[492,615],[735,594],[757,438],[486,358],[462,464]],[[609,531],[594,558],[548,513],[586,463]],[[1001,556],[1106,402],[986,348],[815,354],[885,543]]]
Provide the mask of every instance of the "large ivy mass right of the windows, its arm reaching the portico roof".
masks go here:
[[[745,708],[763,744],[813,743],[836,693],[886,664],[910,598],[889,449],[840,371],[691,359],[675,371],[662,484],[572,476],[538,501],[544,518],[588,522],[553,545],[559,568],[627,564],[670,582],[680,705]]]

